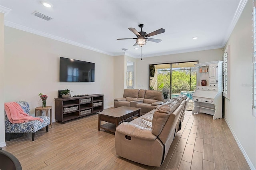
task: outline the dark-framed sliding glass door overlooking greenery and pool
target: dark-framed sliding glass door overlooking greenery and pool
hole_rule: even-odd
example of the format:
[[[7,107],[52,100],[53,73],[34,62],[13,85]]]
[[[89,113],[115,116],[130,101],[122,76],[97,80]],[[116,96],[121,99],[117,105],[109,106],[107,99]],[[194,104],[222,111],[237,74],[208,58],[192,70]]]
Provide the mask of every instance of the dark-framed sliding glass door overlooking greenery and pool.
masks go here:
[[[180,94],[190,97],[188,110],[194,105],[192,95],[196,90],[196,67],[198,61],[149,65],[149,87],[152,90],[169,88],[168,99]]]

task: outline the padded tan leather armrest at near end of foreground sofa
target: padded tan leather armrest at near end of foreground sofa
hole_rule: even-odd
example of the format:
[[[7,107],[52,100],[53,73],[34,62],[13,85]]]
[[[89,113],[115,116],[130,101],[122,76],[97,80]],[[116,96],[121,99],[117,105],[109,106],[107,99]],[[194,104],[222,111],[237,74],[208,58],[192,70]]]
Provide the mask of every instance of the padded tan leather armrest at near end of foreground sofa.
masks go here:
[[[116,131],[136,138],[141,138],[144,140],[156,140],[157,136],[152,134],[151,128],[144,128],[139,125],[135,125],[128,122],[123,122],[118,127]]]

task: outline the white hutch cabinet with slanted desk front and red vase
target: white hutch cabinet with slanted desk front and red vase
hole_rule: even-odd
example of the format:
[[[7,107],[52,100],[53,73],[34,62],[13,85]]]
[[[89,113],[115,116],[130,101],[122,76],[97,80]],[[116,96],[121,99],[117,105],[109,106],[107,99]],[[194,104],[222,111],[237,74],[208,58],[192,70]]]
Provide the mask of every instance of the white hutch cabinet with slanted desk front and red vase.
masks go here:
[[[196,91],[193,94],[192,113],[213,115],[222,118],[222,61],[199,63],[196,65]],[[206,83],[201,83],[206,81]]]

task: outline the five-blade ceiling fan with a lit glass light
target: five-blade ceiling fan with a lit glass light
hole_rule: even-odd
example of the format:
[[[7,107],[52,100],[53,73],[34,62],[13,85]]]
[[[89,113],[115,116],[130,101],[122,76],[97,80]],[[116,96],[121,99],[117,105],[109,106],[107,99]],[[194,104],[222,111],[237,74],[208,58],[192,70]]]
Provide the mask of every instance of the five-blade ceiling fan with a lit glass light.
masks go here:
[[[128,28],[131,32],[133,32],[137,38],[118,38],[117,40],[129,40],[129,39],[136,39],[136,43],[134,44],[135,45],[140,45],[140,47],[142,47],[143,45],[146,44],[147,41],[150,41],[150,42],[156,42],[156,43],[159,43],[161,42],[162,40],[159,40],[159,39],[154,39],[154,38],[148,38],[148,37],[151,37],[151,36],[155,36],[157,34],[161,34],[161,33],[164,33],[165,30],[163,28],[160,28],[159,30],[156,30],[154,32],[151,32],[149,34],[147,34],[146,32],[143,32],[142,31],[142,28],[143,28],[143,24],[140,24],[139,27],[140,27],[140,32],[138,32],[135,28]]]

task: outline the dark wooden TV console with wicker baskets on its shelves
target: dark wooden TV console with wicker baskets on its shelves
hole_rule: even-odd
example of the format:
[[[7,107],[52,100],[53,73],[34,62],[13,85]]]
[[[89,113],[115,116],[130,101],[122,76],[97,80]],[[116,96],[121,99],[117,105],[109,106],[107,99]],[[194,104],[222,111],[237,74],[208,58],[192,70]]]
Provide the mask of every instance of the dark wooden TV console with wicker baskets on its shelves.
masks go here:
[[[104,95],[94,94],[70,99],[55,99],[55,119],[65,123],[72,119],[103,111]]]

